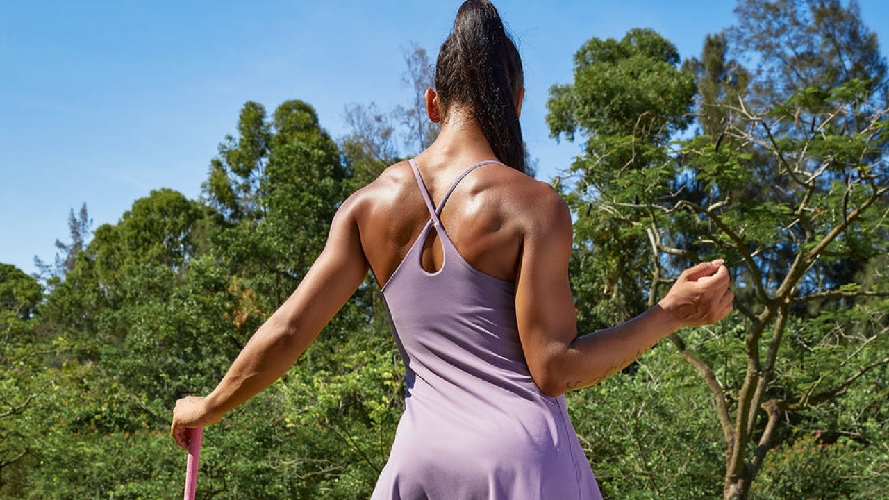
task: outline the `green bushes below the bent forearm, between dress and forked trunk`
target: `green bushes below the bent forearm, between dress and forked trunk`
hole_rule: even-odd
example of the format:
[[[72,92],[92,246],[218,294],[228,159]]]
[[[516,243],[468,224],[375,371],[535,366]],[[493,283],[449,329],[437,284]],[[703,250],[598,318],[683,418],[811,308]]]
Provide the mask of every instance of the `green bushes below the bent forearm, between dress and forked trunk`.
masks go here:
[[[718,496],[725,455],[712,400],[669,346],[567,399],[605,498]]]

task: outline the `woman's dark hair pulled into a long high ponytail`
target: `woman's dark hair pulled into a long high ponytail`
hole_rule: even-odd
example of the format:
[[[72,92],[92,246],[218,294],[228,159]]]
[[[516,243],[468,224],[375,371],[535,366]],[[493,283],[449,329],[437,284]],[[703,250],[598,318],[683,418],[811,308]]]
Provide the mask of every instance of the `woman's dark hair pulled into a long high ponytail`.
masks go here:
[[[525,85],[522,60],[487,0],[467,0],[436,62],[442,120],[453,103],[469,106],[501,162],[525,172],[525,145],[516,112]]]

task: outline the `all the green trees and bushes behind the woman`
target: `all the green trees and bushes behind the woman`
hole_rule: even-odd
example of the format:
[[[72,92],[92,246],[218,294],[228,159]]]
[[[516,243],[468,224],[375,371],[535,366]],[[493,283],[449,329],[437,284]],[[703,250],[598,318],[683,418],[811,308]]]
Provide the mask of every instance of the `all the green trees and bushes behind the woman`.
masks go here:
[[[573,82],[550,90],[550,132],[584,140],[556,181],[575,214],[581,331],[629,319],[679,268],[717,256],[738,310],[681,332],[678,353],[658,346],[569,395],[573,422],[606,497],[878,497],[885,62],[854,4],[749,0],[739,12],[682,69],[651,30],[591,39]],[[762,70],[741,66],[751,54]],[[204,199],[152,191],[92,240],[85,206],[72,211],[44,286],[0,264],[0,499],[180,496],[173,402],[212,390],[299,284],[348,192],[397,159],[398,131],[418,140],[407,149],[434,133],[415,127],[424,57],[407,56],[412,108],[353,108],[339,147],[306,102],[271,116],[247,102]],[[692,110],[700,130],[671,142]],[[368,277],[289,374],[205,431],[199,495],[366,498],[403,394]]]

